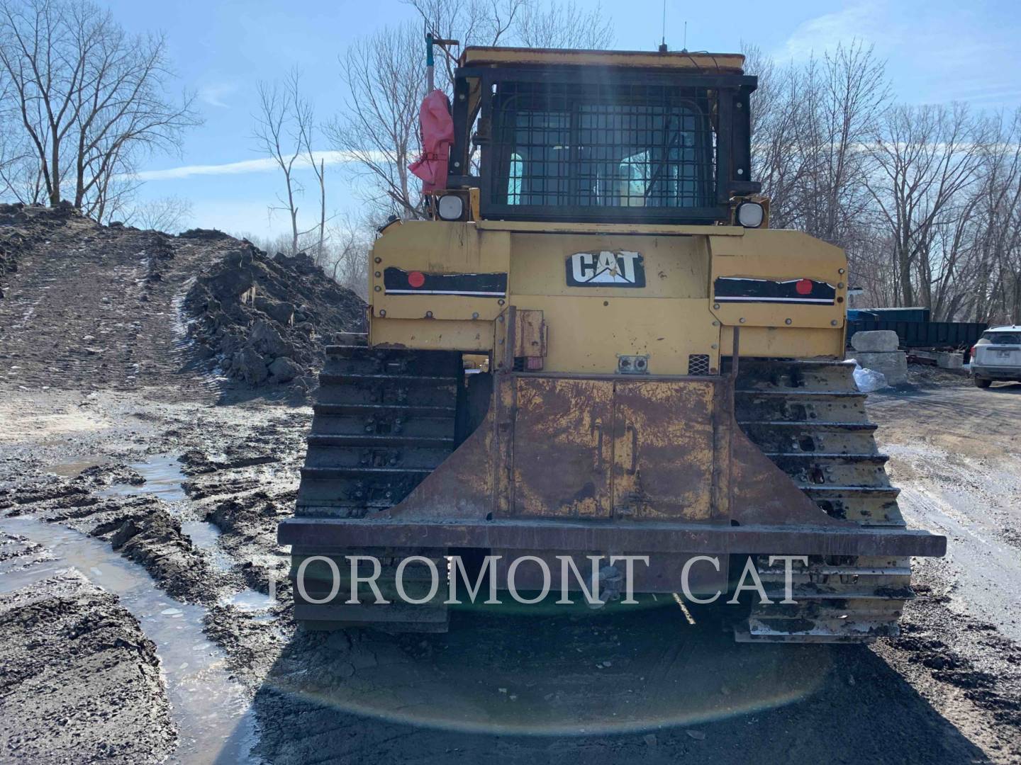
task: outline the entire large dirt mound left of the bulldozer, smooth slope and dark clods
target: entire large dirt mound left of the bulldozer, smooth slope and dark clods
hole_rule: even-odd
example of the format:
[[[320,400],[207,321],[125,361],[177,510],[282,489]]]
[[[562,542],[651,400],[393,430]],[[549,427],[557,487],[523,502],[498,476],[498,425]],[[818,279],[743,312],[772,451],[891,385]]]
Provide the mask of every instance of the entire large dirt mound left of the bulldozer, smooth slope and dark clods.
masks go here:
[[[200,367],[304,393],[324,346],[363,326],[362,301],[307,255],[212,230],[100,225],[69,205],[0,205],[0,359],[16,359],[0,381],[27,387],[174,375],[209,389]]]

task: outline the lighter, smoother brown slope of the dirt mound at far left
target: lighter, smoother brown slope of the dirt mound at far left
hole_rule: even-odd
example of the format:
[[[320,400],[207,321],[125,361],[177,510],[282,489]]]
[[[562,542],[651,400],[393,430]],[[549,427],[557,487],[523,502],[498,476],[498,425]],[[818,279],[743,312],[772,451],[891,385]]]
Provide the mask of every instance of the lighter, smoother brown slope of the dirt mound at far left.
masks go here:
[[[179,309],[201,266],[239,244],[100,225],[68,206],[0,206],[0,382],[133,390],[176,378],[177,395],[206,392]]]

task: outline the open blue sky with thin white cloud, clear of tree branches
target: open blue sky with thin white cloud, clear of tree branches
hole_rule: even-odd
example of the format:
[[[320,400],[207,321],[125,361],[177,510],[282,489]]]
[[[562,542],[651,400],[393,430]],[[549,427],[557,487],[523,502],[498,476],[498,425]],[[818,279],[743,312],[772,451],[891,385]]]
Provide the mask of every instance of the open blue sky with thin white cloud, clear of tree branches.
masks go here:
[[[578,3],[594,7],[596,0]],[[257,81],[281,78],[298,66],[317,115],[326,119],[343,100],[338,55],[359,36],[415,18],[414,10],[399,0],[107,4],[129,31],[166,35],[181,85],[197,92],[205,119],[188,134],[180,157],[153,157],[139,168],[146,178],[140,195],[188,198],[194,205],[192,225],[260,236],[280,234],[287,222],[281,213],[268,214],[280,191],[279,172],[252,161],[259,158],[251,139]],[[690,50],[737,51],[744,40],[784,61],[858,37],[874,44],[886,59],[902,101],[960,100],[976,108],[1013,110],[1021,105],[1014,47],[1021,22],[1016,6],[1000,1],[963,5],[960,0],[668,0],[667,42],[672,49],[681,47],[686,19]],[[613,18],[615,47],[654,49],[660,42],[662,0],[603,0],[601,8]],[[329,146],[324,142],[318,148]],[[311,190],[312,184],[307,185]],[[342,164],[328,168],[332,210],[356,212],[349,186]],[[309,191],[303,205],[309,220],[315,204]]]

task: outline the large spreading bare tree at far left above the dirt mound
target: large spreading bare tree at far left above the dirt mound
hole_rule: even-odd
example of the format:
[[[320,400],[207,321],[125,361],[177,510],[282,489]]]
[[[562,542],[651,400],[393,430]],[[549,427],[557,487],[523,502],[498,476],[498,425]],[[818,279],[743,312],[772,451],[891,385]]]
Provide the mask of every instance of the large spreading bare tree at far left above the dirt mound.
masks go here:
[[[141,151],[179,146],[199,122],[192,96],[167,97],[173,76],[158,36],[130,36],[88,0],[0,0],[0,69],[51,205],[67,195],[94,212]],[[72,191],[71,191],[72,190]]]

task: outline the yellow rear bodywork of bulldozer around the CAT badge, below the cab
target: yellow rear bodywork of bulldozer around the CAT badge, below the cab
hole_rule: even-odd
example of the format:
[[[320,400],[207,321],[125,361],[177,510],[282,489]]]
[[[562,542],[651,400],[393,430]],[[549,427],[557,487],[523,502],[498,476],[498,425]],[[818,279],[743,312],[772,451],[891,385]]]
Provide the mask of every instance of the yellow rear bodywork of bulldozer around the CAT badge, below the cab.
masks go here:
[[[645,286],[569,287],[573,253],[641,254]],[[542,369],[614,373],[619,355],[648,356],[652,374],[683,375],[689,355],[837,358],[843,351],[846,260],[836,247],[797,232],[722,225],[408,221],[388,226],[373,250],[370,342],[423,349],[493,351],[507,357],[510,306],[541,311],[548,333]],[[429,273],[506,273],[500,299],[387,295],[389,266]],[[833,305],[726,304],[712,300],[719,276],[811,278],[836,288]]]

